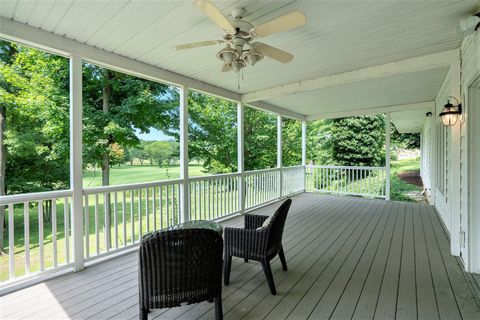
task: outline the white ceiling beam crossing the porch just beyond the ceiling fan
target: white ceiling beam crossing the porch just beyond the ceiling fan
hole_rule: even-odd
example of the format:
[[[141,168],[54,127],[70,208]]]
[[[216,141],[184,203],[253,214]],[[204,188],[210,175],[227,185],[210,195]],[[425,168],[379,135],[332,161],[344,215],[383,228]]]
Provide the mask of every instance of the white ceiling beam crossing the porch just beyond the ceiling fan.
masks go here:
[[[372,80],[398,74],[437,69],[449,66],[452,62],[458,59],[458,49],[443,51],[430,55],[410,58],[354,71],[337,73],[310,80],[302,80],[278,87],[246,93],[242,95],[241,99],[245,103],[251,103],[253,101],[265,100],[289,94],[341,86],[357,81]]]

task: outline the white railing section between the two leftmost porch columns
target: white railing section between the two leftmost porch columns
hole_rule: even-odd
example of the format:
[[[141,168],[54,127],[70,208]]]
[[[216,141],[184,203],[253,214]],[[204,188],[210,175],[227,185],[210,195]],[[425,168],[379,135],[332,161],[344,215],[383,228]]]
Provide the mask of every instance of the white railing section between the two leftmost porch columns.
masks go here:
[[[83,191],[85,260],[136,245],[145,233],[180,221],[181,179]]]

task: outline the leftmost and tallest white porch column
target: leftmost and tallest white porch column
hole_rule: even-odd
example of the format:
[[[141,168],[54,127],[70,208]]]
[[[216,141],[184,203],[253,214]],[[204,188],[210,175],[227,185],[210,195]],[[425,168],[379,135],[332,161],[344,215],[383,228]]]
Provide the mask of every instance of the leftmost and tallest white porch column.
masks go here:
[[[84,269],[82,173],[82,59],[70,57],[70,189],[72,190],[73,271]]]

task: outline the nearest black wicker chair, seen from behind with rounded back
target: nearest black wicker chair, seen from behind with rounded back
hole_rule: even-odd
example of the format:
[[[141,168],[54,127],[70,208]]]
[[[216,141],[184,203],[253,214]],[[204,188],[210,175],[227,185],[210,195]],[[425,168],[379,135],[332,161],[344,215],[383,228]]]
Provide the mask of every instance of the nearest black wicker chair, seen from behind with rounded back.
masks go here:
[[[140,244],[140,319],[152,309],[215,300],[222,313],[222,236],[208,229],[158,231]]]

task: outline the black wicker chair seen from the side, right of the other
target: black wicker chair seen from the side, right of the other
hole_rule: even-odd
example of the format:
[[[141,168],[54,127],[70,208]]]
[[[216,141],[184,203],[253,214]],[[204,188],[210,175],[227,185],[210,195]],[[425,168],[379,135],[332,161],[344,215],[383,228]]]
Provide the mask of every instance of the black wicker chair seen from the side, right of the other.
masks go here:
[[[278,254],[283,270],[287,270],[287,261],[285,260],[282,247],[282,234],[291,204],[291,199],[286,200],[273,214],[268,226],[262,227],[268,216],[246,214],[245,229],[225,228],[225,285],[228,285],[230,282],[232,256],[235,256],[244,258],[245,262],[248,262],[248,259],[260,261],[267,277],[270,291],[273,295],[277,294],[275,283],[273,282],[272,269],[270,268],[270,260]]]

